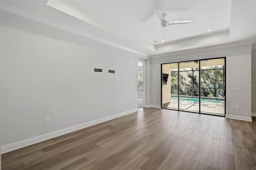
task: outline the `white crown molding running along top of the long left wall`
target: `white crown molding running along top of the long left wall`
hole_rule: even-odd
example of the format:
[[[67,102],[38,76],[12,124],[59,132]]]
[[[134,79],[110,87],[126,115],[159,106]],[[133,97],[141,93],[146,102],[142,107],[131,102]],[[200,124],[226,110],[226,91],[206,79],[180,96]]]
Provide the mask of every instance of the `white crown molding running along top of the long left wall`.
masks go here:
[[[122,46],[122,45],[117,44],[115,42],[112,42],[112,41],[100,38],[98,36],[94,36],[92,34],[88,34],[86,32],[80,31],[80,30],[78,30],[76,28],[72,28],[70,26],[67,26],[67,25],[64,25],[64,24],[60,24],[58,22],[55,22],[53,20],[50,20],[50,19],[47,19],[47,18],[44,18],[44,17],[41,17],[41,16],[38,16],[36,14],[32,14],[30,12],[21,10],[19,8],[14,7],[14,6],[10,6],[10,5],[1,3],[0,7],[1,7],[0,9],[3,10],[3,11],[6,11],[6,12],[9,12],[9,13],[18,15],[18,16],[22,16],[24,18],[28,18],[30,20],[34,20],[34,21],[40,22],[42,24],[46,24],[46,25],[52,26],[54,28],[58,28],[58,29],[61,29],[61,30],[67,31],[67,32],[71,32],[73,34],[76,34],[76,35],[79,35],[79,36],[82,36],[82,37],[85,37],[85,38],[89,38],[91,40],[95,40],[95,41],[98,41],[98,42],[101,42],[101,43],[104,43],[104,44],[107,44],[107,45],[110,45],[110,46],[113,46],[113,47],[116,47],[116,48],[120,48],[122,50],[126,50],[126,51],[129,51],[129,52],[132,52],[134,54],[138,54],[138,55],[140,55],[144,59],[148,59],[149,58],[148,54],[144,54],[144,53],[139,52],[137,50],[134,50],[132,48],[128,48],[126,46]]]

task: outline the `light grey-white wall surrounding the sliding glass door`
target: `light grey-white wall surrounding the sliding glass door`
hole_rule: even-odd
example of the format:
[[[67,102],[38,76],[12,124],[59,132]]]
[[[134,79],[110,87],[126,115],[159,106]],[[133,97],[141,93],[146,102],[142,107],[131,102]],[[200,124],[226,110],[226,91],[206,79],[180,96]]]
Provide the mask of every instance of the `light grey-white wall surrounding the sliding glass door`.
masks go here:
[[[190,52],[151,59],[151,104],[161,105],[161,65],[204,58],[226,56],[226,117],[251,121],[251,45],[241,45],[214,50]],[[234,92],[241,87],[242,92]],[[156,98],[156,101],[153,100]],[[236,105],[240,110],[236,110]],[[242,116],[242,117],[240,117]]]

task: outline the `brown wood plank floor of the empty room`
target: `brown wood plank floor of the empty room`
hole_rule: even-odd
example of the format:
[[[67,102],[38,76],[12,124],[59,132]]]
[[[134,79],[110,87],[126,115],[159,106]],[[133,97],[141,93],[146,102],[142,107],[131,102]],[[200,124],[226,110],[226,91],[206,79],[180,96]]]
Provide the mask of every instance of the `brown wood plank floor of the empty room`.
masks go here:
[[[253,120],[141,108],[2,154],[2,170],[256,170]]]

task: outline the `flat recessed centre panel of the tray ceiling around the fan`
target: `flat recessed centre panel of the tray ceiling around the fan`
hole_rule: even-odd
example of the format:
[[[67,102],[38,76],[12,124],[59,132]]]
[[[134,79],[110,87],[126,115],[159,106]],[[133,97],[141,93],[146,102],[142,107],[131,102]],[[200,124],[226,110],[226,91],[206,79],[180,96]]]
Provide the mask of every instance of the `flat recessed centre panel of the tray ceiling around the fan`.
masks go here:
[[[154,9],[166,13],[167,21],[192,20],[190,24],[170,25],[165,29],[165,40],[183,38],[228,30],[230,27],[231,1],[76,1],[70,3],[90,18],[111,24],[154,44],[163,39],[163,28]],[[157,44],[158,44],[157,43]]]

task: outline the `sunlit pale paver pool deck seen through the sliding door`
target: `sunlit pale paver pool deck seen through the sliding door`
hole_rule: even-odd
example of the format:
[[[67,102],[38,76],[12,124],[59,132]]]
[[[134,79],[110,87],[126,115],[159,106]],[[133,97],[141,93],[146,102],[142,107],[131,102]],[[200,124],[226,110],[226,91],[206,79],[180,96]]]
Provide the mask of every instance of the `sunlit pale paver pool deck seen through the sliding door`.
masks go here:
[[[178,100],[172,99],[170,103],[163,104],[162,108],[178,110]],[[198,113],[199,102],[180,100],[180,110]],[[201,101],[201,113],[224,116],[224,100],[220,101],[220,103]]]

